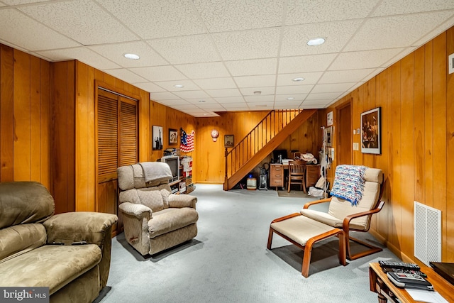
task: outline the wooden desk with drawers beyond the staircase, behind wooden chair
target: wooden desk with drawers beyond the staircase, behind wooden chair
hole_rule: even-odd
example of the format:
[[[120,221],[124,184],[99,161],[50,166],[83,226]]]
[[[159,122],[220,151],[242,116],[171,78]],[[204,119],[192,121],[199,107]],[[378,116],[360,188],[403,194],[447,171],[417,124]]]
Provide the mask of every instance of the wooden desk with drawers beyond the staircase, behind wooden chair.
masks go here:
[[[289,165],[273,163],[270,165],[270,187],[285,187],[284,177],[288,175]],[[320,165],[306,165],[306,187],[314,186],[320,177]]]

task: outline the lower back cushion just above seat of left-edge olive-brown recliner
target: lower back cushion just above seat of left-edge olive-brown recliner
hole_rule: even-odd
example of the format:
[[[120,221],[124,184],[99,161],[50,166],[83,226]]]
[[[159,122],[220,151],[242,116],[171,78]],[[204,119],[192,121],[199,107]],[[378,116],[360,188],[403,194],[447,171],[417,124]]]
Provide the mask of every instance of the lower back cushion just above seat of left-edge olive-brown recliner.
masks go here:
[[[0,229],[0,263],[45,245],[43,224],[19,224]]]

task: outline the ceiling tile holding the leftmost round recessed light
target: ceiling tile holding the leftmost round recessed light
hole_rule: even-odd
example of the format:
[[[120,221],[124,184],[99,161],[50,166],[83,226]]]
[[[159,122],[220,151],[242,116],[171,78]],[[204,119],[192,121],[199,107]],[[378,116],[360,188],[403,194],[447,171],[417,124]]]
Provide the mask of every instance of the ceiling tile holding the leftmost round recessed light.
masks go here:
[[[169,64],[164,58],[153,50],[147,43],[143,41],[134,41],[128,43],[108,44],[108,45],[92,45],[89,46],[99,55],[102,55],[109,60],[117,62],[122,67],[143,67],[155,65]],[[126,58],[126,53],[139,55],[139,60],[131,60]]]

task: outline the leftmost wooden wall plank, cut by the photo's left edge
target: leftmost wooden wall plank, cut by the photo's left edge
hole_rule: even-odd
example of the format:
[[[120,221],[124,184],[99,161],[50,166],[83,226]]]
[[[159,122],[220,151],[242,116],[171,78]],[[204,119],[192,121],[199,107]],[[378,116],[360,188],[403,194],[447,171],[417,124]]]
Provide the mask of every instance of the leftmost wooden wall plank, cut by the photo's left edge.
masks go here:
[[[0,44],[0,182],[13,181],[13,48]]]

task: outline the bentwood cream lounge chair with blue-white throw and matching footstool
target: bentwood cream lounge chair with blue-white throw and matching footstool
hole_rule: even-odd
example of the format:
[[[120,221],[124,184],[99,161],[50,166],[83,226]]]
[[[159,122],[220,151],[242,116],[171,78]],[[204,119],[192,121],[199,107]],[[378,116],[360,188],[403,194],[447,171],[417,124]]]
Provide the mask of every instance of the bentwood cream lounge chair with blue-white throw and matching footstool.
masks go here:
[[[339,238],[339,263],[345,258],[355,260],[377,253],[372,246],[350,235],[350,231],[369,231],[372,214],[379,212],[384,189],[382,170],[355,165],[338,165],[331,194],[333,197],[304,204],[299,213],[275,219],[270,224],[267,248],[271,249],[273,233],[304,250],[301,275],[309,276],[311,250],[314,243],[331,236]],[[329,202],[328,212],[309,209],[318,203]],[[367,250],[352,253],[350,241],[367,246]]]

